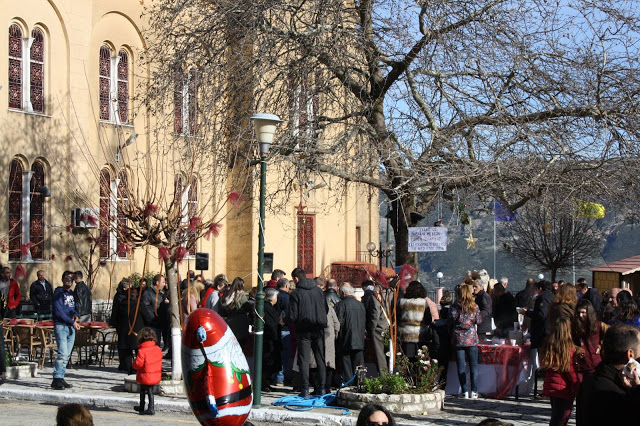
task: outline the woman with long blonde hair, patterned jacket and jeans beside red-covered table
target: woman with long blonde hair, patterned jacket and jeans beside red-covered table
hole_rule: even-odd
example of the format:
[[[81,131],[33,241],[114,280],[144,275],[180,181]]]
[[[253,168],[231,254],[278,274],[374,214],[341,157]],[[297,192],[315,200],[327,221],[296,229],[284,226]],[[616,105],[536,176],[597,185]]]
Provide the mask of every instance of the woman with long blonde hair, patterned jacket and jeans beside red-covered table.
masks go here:
[[[476,325],[482,322],[480,310],[473,296],[473,286],[462,284],[458,289],[456,302],[449,309],[453,327],[453,345],[456,352],[456,365],[462,398],[478,399],[478,333]],[[467,385],[467,366],[471,373],[471,392]]]

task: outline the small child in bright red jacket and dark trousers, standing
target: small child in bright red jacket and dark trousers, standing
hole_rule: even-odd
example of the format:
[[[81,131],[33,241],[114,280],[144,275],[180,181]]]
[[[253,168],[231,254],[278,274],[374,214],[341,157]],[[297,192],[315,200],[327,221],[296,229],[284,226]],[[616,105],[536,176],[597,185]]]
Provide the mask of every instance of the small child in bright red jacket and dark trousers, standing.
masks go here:
[[[140,384],[140,405],[133,407],[140,414],[154,415],[153,386],[162,379],[162,350],[156,345],[156,333],[144,327],[138,334],[138,356],[133,363],[137,370],[136,381]],[[144,409],[145,395],[149,397],[149,405]]]

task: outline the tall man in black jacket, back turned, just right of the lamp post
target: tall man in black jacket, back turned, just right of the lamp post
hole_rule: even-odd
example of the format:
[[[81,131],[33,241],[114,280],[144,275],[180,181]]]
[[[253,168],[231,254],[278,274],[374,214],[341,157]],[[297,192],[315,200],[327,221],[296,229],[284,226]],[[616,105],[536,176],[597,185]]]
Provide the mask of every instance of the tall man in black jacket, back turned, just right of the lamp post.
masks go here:
[[[296,283],[296,289],[289,296],[289,310],[287,321],[295,324],[296,339],[298,341],[298,366],[302,378],[300,396],[309,396],[309,357],[313,354],[318,366],[319,383],[315,387],[314,395],[323,395],[326,380],[326,365],[324,362],[324,328],[327,325],[329,306],[324,299],[324,293],[315,281],[307,279],[302,268],[291,272]]]

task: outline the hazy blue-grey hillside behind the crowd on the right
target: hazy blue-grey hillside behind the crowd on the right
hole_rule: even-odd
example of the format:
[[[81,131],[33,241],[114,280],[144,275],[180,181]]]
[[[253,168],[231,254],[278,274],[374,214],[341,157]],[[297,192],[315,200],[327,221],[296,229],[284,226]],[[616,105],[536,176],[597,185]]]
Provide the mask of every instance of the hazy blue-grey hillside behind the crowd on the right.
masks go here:
[[[385,206],[385,203],[382,204]],[[387,220],[384,218],[386,211],[381,211],[380,217],[380,240],[385,241]],[[608,215],[610,216],[610,215]],[[492,215],[472,215],[473,236],[478,239],[476,249],[467,249],[467,242],[464,240],[469,236],[469,227],[456,223],[456,218],[452,217],[450,211],[446,210],[443,221],[448,225],[448,246],[446,252],[419,253],[418,263],[420,269],[420,281],[429,287],[438,286],[436,274],[442,272],[442,286],[453,288],[460,282],[460,278],[467,270],[486,269],[492,278],[506,276],[509,278],[509,290],[518,291],[524,288],[527,278],[537,279],[542,273],[546,279],[551,277],[549,271],[541,269],[526,269],[518,260],[507,255],[503,249],[504,241],[501,229],[503,223],[496,223],[496,270],[493,269],[493,216]],[[420,226],[432,226],[437,220],[435,213],[423,219]],[[605,238],[600,256],[595,257],[589,267],[595,267],[604,263],[624,259],[626,257],[640,254],[640,228],[629,223],[615,223],[615,218],[605,217],[598,221],[599,227],[603,230]],[[393,242],[393,231],[389,236]],[[591,271],[588,268],[576,268],[576,279],[584,277],[591,284]],[[571,269],[558,273],[558,279],[573,281]]]

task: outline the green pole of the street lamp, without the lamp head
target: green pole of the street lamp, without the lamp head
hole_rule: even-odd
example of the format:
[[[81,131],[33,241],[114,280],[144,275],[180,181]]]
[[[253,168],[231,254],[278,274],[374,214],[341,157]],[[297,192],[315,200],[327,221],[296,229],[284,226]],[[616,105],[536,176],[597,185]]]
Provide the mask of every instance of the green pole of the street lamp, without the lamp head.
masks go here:
[[[264,337],[264,216],[267,186],[267,154],[260,154],[260,229],[258,229],[258,292],[254,327],[253,405],[262,402],[262,340]]]

